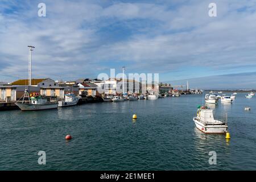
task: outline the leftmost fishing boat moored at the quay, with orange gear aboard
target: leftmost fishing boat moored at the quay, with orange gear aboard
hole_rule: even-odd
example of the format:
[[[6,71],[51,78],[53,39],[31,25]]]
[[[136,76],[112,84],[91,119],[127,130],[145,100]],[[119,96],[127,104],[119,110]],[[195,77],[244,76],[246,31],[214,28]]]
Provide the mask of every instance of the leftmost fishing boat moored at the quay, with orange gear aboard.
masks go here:
[[[59,105],[58,102],[47,101],[46,98],[43,98],[39,94],[30,97],[27,89],[22,98],[22,102],[15,102],[15,105],[23,111],[57,109]],[[26,102],[26,98],[28,98],[28,102]]]

